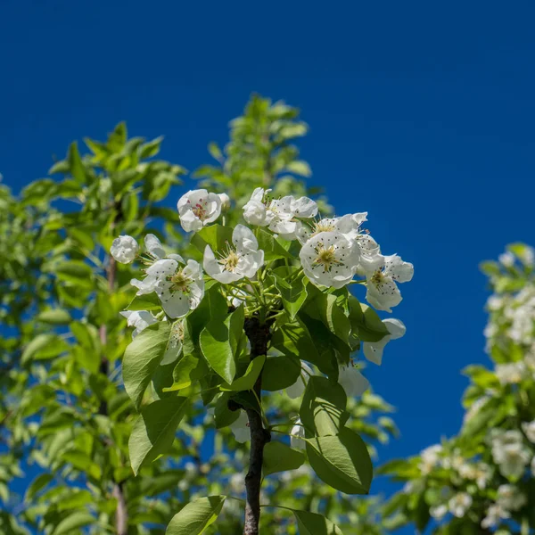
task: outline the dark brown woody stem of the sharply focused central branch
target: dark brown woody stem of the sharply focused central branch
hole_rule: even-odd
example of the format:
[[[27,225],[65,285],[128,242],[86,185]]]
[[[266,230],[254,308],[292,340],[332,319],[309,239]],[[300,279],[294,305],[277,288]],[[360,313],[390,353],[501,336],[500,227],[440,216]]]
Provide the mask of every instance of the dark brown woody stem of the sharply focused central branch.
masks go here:
[[[245,333],[251,342],[251,360],[268,352],[270,338],[269,324],[260,324],[257,317],[245,320]],[[258,399],[261,401],[262,374],[254,385]],[[243,535],[258,535],[260,521],[260,487],[262,481],[262,462],[264,460],[264,446],[271,440],[271,435],[264,428],[262,416],[250,408],[245,408],[249,419],[251,432],[251,452],[249,457],[249,471],[245,476],[245,490],[247,492],[245,504],[245,523]]]

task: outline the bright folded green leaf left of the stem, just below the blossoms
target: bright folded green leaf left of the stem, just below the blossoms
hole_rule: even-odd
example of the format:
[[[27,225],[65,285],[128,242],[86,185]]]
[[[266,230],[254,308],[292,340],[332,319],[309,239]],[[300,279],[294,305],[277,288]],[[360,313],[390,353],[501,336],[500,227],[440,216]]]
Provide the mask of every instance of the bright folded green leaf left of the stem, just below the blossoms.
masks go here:
[[[204,358],[226,383],[235,378],[235,354],[243,336],[243,307],[235,309],[226,320],[212,319],[202,329],[199,342]]]

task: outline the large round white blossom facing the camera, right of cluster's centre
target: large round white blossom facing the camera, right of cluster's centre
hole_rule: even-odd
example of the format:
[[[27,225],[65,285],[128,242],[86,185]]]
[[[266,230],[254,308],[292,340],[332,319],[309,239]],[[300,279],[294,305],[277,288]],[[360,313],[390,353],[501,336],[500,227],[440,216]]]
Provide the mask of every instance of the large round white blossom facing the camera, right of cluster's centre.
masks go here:
[[[299,256],[312,283],[342,288],[355,275],[358,247],[338,232],[321,232],[303,245]]]

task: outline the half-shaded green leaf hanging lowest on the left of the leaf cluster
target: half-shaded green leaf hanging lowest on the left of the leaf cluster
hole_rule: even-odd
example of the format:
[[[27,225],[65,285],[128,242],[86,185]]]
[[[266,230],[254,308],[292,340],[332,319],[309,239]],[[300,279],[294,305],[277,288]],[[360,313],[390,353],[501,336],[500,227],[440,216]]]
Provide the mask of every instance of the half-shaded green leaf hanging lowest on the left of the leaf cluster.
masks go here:
[[[151,463],[170,449],[187,403],[187,398],[171,396],[141,408],[128,440],[130,464],[136,475],[142,465]]]

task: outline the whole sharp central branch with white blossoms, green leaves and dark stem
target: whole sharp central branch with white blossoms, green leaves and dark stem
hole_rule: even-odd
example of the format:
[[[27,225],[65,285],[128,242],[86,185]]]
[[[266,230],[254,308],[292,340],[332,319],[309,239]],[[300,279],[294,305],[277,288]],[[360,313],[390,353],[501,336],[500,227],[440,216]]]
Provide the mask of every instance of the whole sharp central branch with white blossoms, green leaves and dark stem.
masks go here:
[[[186,259],[155,235],[144,236],[144,247],[121,235],[111,263],[136,262],[140,274],[122,313],[134,327],[122,370],[140,413],[129,440],[134,472],[165,454],[187,408],[202,404],[217,429],[251,443],[243,533],[254,535],[262,506],[284,508],[260,503],[269,473],[308,461],[333,489],[368,492],[372,462],[346,426],[347,400],[369,386],[358,351],[380,365],[385,344],[405,333],[375,310],[399,304],[398,284],[411,280],[413,266],[383,255],[364,228],[366,212],[321,218],[308,197],[271,198],[257,188],[243,206],[245,224],[233,227],[225,225],[229,203],[204,189],[179,199],[180,224],[193,233]],[[353,284],[366,288],[368,305],[349,292]],[[284,390],[301,398],[299,416],[269,421],[262,398]],[[190,502],[167,533],[202,533],[229,499],[237,498]],[[342,533],[320,514],[293,514],[303,532]]]

